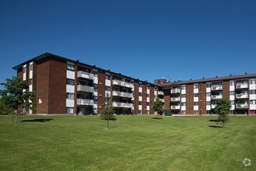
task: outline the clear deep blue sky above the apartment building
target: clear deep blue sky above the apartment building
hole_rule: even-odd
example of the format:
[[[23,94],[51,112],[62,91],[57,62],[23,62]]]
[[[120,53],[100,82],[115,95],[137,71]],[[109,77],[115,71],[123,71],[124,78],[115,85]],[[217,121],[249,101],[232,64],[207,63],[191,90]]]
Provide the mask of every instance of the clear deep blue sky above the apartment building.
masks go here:
[[[255,73],[255,9],[253,0],[1,0],[0,82],[44,52],[149,82]]]

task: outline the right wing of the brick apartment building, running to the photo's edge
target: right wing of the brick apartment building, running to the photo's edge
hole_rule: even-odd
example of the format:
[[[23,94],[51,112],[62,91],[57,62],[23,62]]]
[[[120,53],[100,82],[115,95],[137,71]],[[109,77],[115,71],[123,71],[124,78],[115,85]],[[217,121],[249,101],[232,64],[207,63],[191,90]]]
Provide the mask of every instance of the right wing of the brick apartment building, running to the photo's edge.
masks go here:
[[[172,114],[212,114],[217,99],[229,99],[232,114],[256,114],[256,74],[168,82],[155,80]]]

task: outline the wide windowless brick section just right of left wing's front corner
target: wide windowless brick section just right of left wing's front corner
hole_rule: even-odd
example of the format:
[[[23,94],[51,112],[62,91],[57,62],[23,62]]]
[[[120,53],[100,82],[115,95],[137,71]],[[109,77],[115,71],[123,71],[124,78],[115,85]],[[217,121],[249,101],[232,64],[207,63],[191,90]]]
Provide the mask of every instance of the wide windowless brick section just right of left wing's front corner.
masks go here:
[[[66,61],[50,61],[49,113],[66,113]]]

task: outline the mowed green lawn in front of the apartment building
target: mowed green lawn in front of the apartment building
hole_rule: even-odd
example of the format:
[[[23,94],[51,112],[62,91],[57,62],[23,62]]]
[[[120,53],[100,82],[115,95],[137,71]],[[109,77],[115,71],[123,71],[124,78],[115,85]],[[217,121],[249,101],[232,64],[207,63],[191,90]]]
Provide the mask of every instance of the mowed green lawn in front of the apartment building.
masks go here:
[[[99,116],[1,116],[0,169],[256,170],[256,117],[214,119],[117,116],[106,130]]]

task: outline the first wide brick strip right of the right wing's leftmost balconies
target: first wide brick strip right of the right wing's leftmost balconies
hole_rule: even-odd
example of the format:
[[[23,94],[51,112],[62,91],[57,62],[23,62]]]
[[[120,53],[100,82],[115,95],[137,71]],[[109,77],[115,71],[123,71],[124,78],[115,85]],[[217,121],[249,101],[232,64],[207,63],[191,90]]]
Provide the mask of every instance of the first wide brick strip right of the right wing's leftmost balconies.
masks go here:
[[[194,114],[194,84],[186,85],[186,114]]]

